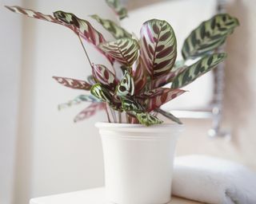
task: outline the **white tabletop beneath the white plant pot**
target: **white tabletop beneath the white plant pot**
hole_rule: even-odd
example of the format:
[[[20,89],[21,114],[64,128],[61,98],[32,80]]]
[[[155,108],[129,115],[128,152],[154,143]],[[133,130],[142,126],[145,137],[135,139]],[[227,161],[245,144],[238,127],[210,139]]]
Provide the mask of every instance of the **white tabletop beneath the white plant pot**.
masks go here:
[[[172,198],[170,204],[196,204],[182,198]],[[81,190],[67,194],[55,194],[41,198],[32,198],[30,204],[111,204],[105,200],[104,188]]]

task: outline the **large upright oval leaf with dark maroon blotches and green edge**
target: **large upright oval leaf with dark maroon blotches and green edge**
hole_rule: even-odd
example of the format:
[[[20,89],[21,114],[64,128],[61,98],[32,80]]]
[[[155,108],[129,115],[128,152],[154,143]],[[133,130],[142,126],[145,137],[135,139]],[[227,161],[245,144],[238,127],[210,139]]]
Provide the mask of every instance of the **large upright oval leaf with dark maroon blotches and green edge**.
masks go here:
[[[177,56],[177,42],[169,23],[152,19],[141,29],[142,60],[151,78],[170,72]]]

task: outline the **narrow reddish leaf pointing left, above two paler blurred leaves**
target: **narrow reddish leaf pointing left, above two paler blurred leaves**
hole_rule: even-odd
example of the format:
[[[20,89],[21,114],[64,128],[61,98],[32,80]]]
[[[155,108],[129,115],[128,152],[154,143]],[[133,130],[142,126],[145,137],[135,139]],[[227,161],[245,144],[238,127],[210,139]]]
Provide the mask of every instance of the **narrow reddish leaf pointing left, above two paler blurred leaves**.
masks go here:
[[[74,80],[66,77],[53,77],[54,80],[57,80],[59,84],[62,84],[69,88],[74,89],[82,89],[89,91],[91,88],[91,85],[88,84],[85,80]]]

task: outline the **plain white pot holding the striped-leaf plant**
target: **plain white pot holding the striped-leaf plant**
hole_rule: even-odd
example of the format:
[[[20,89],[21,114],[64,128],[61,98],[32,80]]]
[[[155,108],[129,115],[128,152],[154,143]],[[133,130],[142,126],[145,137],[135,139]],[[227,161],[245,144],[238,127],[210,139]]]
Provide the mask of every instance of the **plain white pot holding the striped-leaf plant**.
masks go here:
[[[97,123],[96,127],[102,137],[108,201],[170,202],[174,151],[183,126]]]

